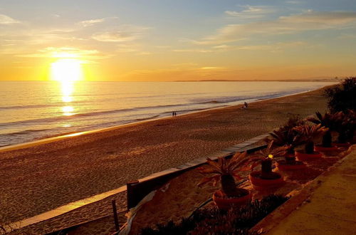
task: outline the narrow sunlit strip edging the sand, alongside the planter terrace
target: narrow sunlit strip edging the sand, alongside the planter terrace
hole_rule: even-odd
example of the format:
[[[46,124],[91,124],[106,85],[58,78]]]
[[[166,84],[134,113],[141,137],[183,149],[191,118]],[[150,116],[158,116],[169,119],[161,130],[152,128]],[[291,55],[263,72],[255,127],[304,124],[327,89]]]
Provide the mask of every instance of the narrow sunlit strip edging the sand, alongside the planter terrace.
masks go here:
[[[263,140],[267,136],[268,136],[268,134],[258,135],[257,137],[253,137],[250,140],[247,140],[245,142],[241,142],[241,143],[239,143],[237,145],[234,145],[233,147],[229,147],[229,148],[227,148],[225,150],[221,150],[219,152],[214,153],[213,155],[209,155],[209,156],[206,156],[206,157],[210,157],[211,159],[214,160],[217,157],[223,157],[223,156],[226,156],[226,155],[231,155],[231,153],[234,153],[234,152],[238,152],[238,151],[241,152],[241,151],[248,150],[249,148],[253,147],[253,145],[256,144],[256,142],[259,142],[260,140]],[[199,164],[202,164],[202,163],[206,162],[206,157],[202,157],[201,159],[194,160],[192,162],[188,162],[187,164],[182,164],[179,167],[174,167],[174,168],[170,168],[170,169],[164,170],[162,172],[157,172],[155,174],[151,174],[148,177],[139,179],[139,181],[142,182],[142,181],[145,181],[145,180],[149,180],[149,179],[152,179],[152,178],[155,178],[155,177],[162,176],[163,174],[169,174],[169,173],[172,173],[172,172],[175,172],[175,171],[179,171],[179,170],[182,170],[182,169],[195,167],[195,166],[197,166]],[[58,207],[56,209],[52,209],[51,211],[46,211],[46,212],[44,212],[42,214],[38,214],[36,216],[32,216],[30,218],[23,219],[21,221],[16,221],[14,223],[6,225],[5,229],[7,231],[14,231],[14,230],[17,230],[17,229],[22,229],[22,228],[24,228],[26,226],[31,226],[31,225],[34,225],[34,224],[38,224],[41,221],[46,221],[48,219],[53,219],[56,216],[61,216],[62,214],[66,214],[69,211],[73,211],[75,209],[79,209],[80,207],[83,207],[83,206],[88,205],[88,204],[92,204],[94,202],[99,202],[100,200],[108,198],[108,197],[110,197],[110,196],[112,196],[114,194],[118,194],[120,192],[125,192],[125,191],[126,191],[126,185],[124,185],[122,187],[119,187],[117,189],[110,190],[108,192],[103,192],[102,194],[94,195],[93,197],[88,197],[88,198],[85,198],[85,199],[78,200],[76,202],[71,202],[69,204],[63,205],[62,207]],[[68,224],[68,226],[70,226],[70,224]],[[56,228],[56,229],[58,229],[58,228]]]

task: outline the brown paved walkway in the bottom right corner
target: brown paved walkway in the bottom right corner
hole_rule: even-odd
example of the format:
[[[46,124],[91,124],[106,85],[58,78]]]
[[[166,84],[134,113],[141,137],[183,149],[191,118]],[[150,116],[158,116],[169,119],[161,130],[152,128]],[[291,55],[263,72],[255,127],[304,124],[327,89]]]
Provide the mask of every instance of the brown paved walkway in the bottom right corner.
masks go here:
[[[274,219],[278,224],[267,234],[356,234],[355,148],[296,197],[303,198],[300,207],[281,220]]]

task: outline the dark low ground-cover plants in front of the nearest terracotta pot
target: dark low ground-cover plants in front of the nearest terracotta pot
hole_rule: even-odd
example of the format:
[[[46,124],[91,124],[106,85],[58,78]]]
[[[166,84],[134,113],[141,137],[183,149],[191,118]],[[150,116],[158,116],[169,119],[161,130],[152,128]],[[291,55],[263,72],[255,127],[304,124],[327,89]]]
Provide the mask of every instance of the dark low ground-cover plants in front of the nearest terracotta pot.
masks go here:
[[[233,207],[229,211],[206,207],[178,224],[173,221],[157,224],[156,229],[145,228],[141,234],[248,234],[248,229],[287,200],[288,197],[270,195],[246,207]]]

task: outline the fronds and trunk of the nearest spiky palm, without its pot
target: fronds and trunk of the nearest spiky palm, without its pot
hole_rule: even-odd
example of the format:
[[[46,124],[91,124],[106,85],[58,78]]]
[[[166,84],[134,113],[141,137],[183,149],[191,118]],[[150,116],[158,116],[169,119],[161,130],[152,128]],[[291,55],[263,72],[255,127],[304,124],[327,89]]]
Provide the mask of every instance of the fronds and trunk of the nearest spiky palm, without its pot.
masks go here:
[[[218,157],[217,162],[208,157],[206,163],[208,166],[199,167],[199,172],[201,174],[213,175],[201,179],[201,182],[198,184],[199,186],[211,181],[215,186],[218,182],[221,182],[221,191],[226,197],[240,197],[243,194],[242,190],[236,187],[235,179],[243,179],[239,173],[248,170],[246,168],[246,164],[248,164],[246,152],[238,152],[230,160]]]

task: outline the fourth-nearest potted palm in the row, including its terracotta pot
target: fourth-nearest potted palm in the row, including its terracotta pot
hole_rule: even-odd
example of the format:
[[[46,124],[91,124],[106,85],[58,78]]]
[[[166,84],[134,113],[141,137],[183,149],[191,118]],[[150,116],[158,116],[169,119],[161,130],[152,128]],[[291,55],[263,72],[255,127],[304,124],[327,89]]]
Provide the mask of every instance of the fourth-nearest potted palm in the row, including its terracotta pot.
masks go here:
[[[323,135],[324,132],[328,131],[328,128],[322,127],[321,124],[318,125],[300,125],[294,127],[294,130],[300,133],[303,137],[304,150],[295,151],[295,156],[298,160],[310,160],[321,157],[320,152],[314,150],[314,138]]]

